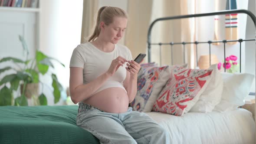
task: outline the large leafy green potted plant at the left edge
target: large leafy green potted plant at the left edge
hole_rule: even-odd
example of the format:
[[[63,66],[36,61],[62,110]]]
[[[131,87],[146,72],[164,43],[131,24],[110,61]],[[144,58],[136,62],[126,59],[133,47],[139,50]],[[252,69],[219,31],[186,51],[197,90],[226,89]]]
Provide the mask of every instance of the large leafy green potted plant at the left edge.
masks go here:
[[[48,72],[49,66],[54,68],[52,60],[59,62],[57,59],[46,56],[43,52],[36,50],[36,56],[33,59],[28,59],[29,51],[25,40],[19,35],[20,42],[22,43],[23,51],[26,53],[26,60],[4,57],[0,59],[1,62],[12,61],[15,66],[7,66],[0,69],[0,74],[7,70],[12,70],[13,73],[6,75],[0,81],[0,106],[1,105],[28,105],[27,98],[33,98],[35,105],[47,105],[46,96],[38,93],[38,85],[42,83],[39,80],[39,74],[45,75]],[[59,62],[65,67],[64,64]],[[16,68],[18,67],[18,69]],[[60,92],[63,90],[62,85],[59,83],[56,75],[51,73],[53,80],[53,95],[54,103],[57,103],[60,98]],[[10,87],[7,87],[7,84]],[[13,92],[20,87],[20,96],[13,99]]]

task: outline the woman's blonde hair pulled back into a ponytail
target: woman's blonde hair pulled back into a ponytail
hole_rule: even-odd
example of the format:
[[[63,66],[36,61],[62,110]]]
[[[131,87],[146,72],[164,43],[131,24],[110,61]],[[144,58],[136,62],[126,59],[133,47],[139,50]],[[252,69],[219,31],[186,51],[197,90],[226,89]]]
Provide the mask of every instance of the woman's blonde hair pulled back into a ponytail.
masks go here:
[[[125,13],[125,11],[119,7],[101,7],[98,10],[95,29],[94,29],[92,35],[89,37],[88,42],[94,41],[98,37],[98,35],[100,33],[99,25],[101,22],[104,22],[105,25],[108,25],[113,22],[113,18],[115,16],[128,18],[127,13]]]

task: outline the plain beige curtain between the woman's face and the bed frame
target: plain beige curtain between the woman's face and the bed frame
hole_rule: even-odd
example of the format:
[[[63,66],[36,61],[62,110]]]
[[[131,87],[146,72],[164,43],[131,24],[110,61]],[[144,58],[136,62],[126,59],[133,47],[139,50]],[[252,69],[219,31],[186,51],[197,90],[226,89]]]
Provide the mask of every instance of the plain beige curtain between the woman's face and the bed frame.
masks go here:
[[[127,8],[129,19],[125,32],[125,46],[131,50],[134,59],[139,53],[146,53],[152,0],[128,0]],[[146,61],[147,58],[144,59],[144,62]]]

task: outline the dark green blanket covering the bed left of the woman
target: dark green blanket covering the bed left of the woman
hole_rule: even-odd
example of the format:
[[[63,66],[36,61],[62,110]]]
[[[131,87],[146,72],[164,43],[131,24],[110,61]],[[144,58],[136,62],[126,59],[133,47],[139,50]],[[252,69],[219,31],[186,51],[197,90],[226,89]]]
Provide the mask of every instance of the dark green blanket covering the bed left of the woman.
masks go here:
[[[76,126],[78,106],[2,106],[0,144],[99,144]]]

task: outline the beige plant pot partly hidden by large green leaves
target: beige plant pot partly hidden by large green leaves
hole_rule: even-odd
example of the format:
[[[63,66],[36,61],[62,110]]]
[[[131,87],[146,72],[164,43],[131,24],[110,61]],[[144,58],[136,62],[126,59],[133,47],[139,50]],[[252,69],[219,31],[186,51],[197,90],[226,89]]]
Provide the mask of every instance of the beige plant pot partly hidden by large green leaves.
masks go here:
[[[20,85],[20,93],[23,92],[23,84]],[[28,83],[26,84],[25,93],[24,95],[26,98],[31,98],[32,95],[38,96],[39,93],[39,83]]]

